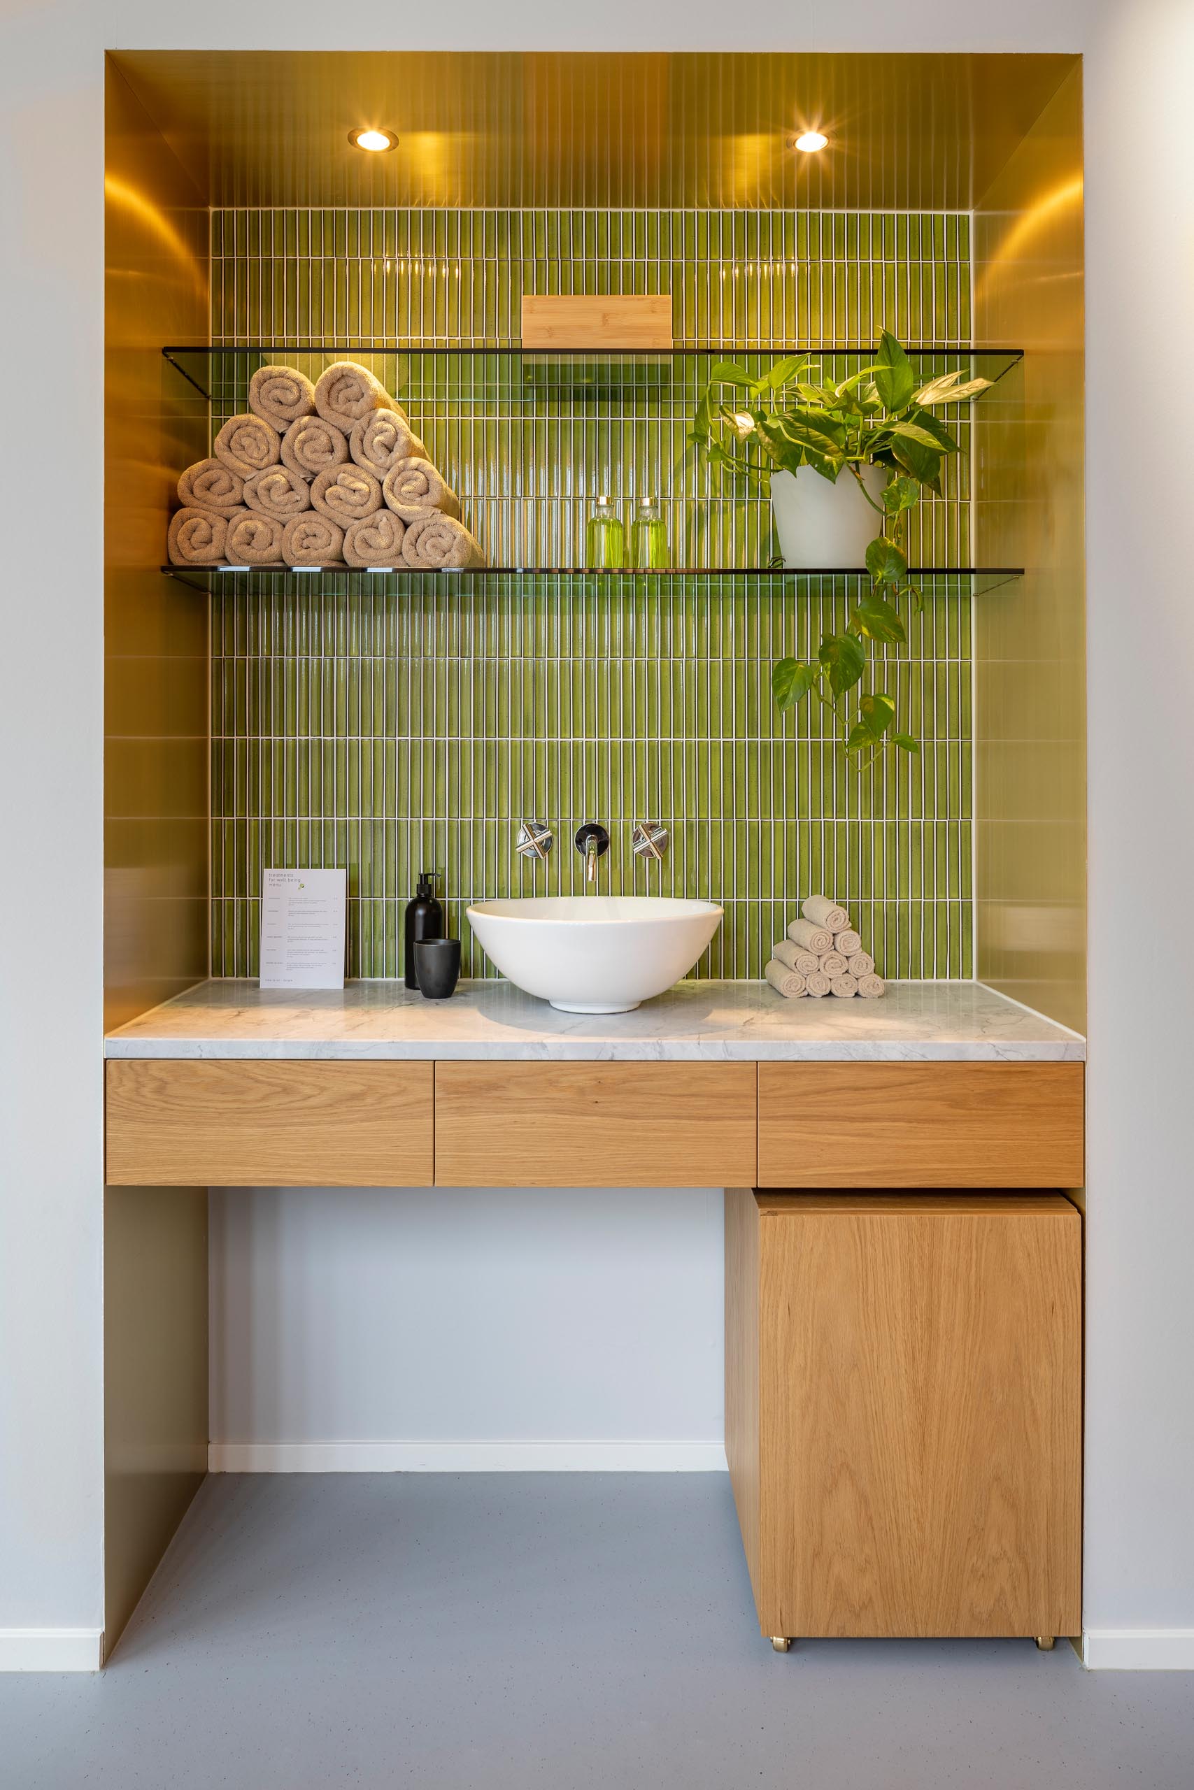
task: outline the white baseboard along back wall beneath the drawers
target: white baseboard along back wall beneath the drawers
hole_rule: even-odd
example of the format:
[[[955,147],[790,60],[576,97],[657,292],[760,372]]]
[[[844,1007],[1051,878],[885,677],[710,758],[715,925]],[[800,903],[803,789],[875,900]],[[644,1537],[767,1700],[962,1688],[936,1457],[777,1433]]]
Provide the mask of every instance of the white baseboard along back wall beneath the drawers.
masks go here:
[[[209,1473],[725,1473],[721,1443],[209,1443]]]

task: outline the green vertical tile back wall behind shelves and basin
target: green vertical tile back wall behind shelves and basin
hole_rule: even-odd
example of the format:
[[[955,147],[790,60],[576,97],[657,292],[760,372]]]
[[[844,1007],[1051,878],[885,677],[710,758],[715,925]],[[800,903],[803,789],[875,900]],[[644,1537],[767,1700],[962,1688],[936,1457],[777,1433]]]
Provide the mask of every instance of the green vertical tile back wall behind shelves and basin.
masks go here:
[[[523,292],[671,292],[678,344],[865,345],[881,326],[968,337],[965,215],[696,211],[218,211],[213,342],[328,347],[401,397],[492,564],[580,564],[600,490],[662,496],[673,558],[764,566],[766,507],[718,499],[682,453],[704,362],[594,392],[544,387],[517,356]],[[381,344],[417,342],[417,353]],[[372,351],[372,354],[371,354]],[[311,353],[311,371],[326,354]],[[945,354],[931,371],[951,365]],[[825,362],[832,371],[834,362]],[[850,365],[857,365],[852,362]],[[213,422],[243,408],[245,360],[217,363]],[[967,430],[967,417],[951,419]],[[913,557],[968,562],[965,467],[924,507]],[[711,503],[711,496],[714,501]],[[970,976],[970,596],[934,584],[909,644],[875,668],[922,741],[859,777],[770,666],[845,621],[845,576],[508,578],[227,575],[213,598],[213,968],[256,974],[265,865],[349,870],[349,974],[401,972],[415,874],[464,908],[580,890],[571,834],[609,825],[607,886],[707,895],[725,924],[700,976],[759,976],[802,895],[847,902],[888,976]],[[546,866],[514,857],[546,818]],[[630,856],[671,825],[662,870]]]

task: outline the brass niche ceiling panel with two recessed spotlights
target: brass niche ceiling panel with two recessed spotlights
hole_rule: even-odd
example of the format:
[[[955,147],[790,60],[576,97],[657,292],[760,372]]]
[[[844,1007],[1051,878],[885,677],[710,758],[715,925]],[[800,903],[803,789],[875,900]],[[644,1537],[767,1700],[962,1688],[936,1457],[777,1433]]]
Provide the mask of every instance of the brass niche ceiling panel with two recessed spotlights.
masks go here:
[[[213,206],[968,209],[1072,55],[113,55]],[[397,152],[349,147],[354,125]],[[788,138],[825,131],[802,156]]]

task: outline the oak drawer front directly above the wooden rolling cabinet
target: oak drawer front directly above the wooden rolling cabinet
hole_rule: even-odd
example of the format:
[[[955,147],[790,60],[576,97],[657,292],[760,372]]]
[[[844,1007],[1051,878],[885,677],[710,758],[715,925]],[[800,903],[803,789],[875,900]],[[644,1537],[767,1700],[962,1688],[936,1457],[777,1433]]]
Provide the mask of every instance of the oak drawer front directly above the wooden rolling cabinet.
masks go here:
[[[757,1187],[1081,1187],[1081,1063],[761,1063]]]

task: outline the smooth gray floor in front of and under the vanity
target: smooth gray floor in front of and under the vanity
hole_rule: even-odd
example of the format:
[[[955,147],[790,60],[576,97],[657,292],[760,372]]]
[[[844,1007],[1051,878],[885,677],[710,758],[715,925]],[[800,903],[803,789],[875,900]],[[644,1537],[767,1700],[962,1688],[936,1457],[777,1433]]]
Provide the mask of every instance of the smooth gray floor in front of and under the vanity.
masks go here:
[[[5,1790],[1194,1785],[1194,1675],[755,1629],[729,1480],[209,1479],[107,1670],[0,1677]]]

